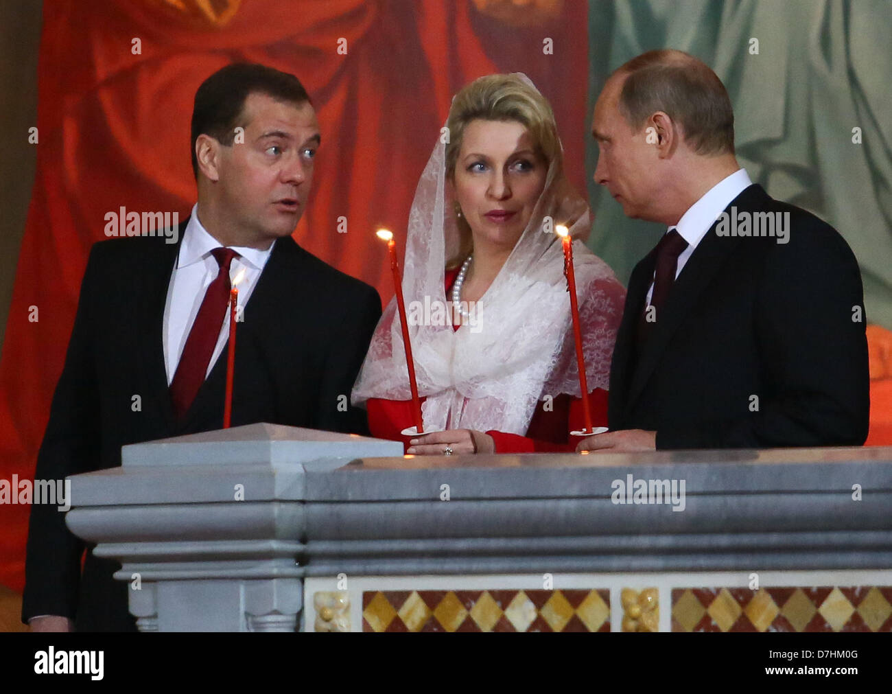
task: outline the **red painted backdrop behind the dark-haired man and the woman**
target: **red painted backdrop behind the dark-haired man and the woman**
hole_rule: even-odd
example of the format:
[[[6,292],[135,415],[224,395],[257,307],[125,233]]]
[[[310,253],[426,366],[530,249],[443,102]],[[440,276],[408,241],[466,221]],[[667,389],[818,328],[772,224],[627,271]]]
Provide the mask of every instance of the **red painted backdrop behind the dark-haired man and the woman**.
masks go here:
[[[103,217],[195,199],[195,89],[228,62],[295,73],[323,145],[294,237],[392,296],[376,224],[406,224],[451,96],[480,75],[526,72],[549,97],[582,191],[589,114],[587,4],[536,0],[44,0],[37,178],[0,362],[0,479],[34,474],[78,286]],[[134,53],[134,40],[140,50]],[[337,52],[346,39],[347,54]],[[543,51],[550,38],[553,53]],[[343,45],[343,42],[342,42]],[[338,234],[345,216],[347,234]],[[37,307],[37,322],[29,308]],[[337,310],[337,307],[332,307]],[[161,349],[161,344],[159,344]],[[0,582],[21,591],[27,507],[0,505]]]

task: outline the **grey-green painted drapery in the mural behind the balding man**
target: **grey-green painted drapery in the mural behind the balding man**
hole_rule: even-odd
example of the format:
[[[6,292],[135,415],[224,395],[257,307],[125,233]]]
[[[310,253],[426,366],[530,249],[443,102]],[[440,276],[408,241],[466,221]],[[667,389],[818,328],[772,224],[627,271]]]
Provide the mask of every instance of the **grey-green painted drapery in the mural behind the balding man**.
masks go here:
[[[892,328],[892,2],[591,0],[589,24],[592,105],[612,70],[652,48],[715,70],[734,106],[740,164],[846,237],[868,322]],[[597,156],[592,142],[590,173]],[[589,244],[627,282],[665,227],[626,219],[590,186]]]

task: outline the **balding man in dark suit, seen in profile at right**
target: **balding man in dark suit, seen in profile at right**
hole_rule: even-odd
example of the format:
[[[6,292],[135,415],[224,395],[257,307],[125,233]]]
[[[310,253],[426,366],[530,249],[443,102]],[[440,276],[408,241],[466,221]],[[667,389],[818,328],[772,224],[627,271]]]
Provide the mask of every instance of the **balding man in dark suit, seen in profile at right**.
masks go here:
[[[842,236],[773,200],[734,154],[722,82],[680,51],[615,71],[595,106],[595,180],[665,224],[632,271],[602,452],[861,445],[863,290]]]

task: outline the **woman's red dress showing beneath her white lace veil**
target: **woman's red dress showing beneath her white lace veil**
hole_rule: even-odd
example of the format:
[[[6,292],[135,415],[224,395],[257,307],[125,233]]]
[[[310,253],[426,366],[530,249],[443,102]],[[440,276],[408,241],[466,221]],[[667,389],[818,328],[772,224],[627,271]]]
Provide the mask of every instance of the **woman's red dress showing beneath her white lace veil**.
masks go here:
[[[446,271],[447,294],[457,275],[458,269]],[[453,326],[453,329],[458,329],[458,327]],[[422,398],[421,401],[424,402],[425,399]],[[540,401],[536,405],[536,411],[533,413],[525,436],[496,430],[486,432],[495,442],[496,452],[537,453],[575,450],[576,442],[570,442],[568,439],[570,431],[585,428],[582,399],[565,393],[558,395],[549,403],[548,410],[545,409],[545,406],[544,401]],[[607,391],[603,388],[591,391],[589,406],[591,425],[607,426]],[[412,401],[369,398],[366,408],[368,409],[368,428],[373,436],[378,439],[402,441],[404,449],[409,448],[409,443],[400,432],[415,424],[415,419],[412,417]]]

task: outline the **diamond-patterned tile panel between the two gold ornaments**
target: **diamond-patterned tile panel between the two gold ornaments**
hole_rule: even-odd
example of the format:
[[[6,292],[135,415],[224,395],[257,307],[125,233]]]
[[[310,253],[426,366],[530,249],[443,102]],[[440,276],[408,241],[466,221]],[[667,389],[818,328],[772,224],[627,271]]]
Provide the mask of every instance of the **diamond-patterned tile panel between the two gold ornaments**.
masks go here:
[[[367,591],[364,632],[609,632],[607,590]]]

